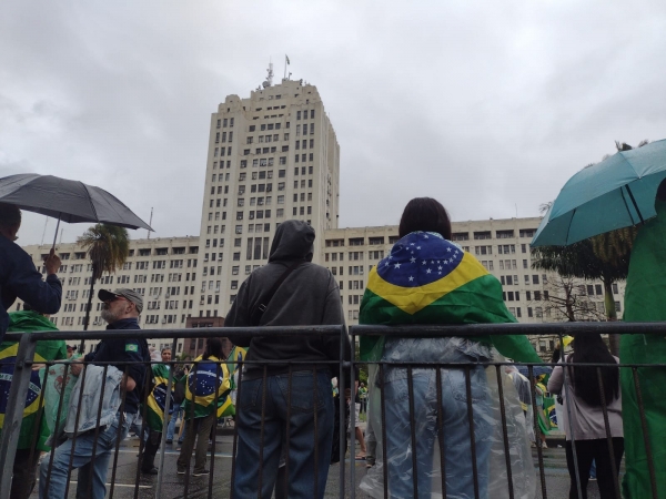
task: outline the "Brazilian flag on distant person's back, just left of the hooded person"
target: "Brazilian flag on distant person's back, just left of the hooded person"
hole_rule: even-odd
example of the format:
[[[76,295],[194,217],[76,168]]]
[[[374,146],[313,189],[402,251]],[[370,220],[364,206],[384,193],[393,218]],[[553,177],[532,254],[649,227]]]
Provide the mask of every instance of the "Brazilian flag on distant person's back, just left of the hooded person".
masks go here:
[[[232,416],[233,404],[229,393],[231,390],[229,368],[226,363],[211,356],[206,359],[199,356],[188,375],[185,384],[185,399],[183,408],[185,418],[202,418],[215,413],[216,418]],[[215,394],[218,407],[215,408]],[[216,409],[216,410],[215,410]]]

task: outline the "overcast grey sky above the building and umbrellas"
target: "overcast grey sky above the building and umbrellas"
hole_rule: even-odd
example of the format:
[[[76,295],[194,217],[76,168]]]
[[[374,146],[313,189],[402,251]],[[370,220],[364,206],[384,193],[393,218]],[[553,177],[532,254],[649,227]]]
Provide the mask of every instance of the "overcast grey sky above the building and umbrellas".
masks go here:
[[[0,176],[78,179],[154,207],[155,237],[195,235],[211,113],[286,53],[337,134],[341,227],[423,195],[455,221],[536,216],[615,140],[666,138],[665,49],[664,0],[6,0]]]

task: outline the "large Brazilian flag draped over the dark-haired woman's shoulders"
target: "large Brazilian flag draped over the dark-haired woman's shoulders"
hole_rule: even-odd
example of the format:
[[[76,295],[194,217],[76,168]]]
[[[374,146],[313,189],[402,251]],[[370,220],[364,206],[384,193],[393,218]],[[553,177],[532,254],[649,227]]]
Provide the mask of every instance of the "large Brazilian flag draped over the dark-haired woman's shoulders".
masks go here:
[[[502,299],[502,285],[470,253],[440,234],[413,232],[370,272],[360,324],[515,323]],[[473,338],[506,357],[541,363],[524,335]],[[361,337],[369,360],[379,338]]]

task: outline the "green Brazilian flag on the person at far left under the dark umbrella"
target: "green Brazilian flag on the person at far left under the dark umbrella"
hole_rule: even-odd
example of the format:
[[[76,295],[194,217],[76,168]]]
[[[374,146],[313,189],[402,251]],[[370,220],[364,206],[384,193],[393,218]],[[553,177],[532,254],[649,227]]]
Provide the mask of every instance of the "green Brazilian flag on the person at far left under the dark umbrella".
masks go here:
[[[43,315],[32,310],[12,312],[9,314],[8,332],[33,333],[38,330],[58,330],[58,328]],[[17,342],[2,342],[0,344],[0,428],[4,425],[4,414],[9,401],[9,388],[14,373],[14,364],[19,344]],[[47,363],[48,360],[67,359],[67,347],[61,339],[48,339],[37,343],[34,354],[36,363]],[[40,376],[40,373],[42,375]],[[46,418],[41,418],[41,425],[36,427],[43,404],[40,405],[40,395],[43,383],[43,369],[33,370],[30,375],[28,395],[23,406],[23,420],[19,434],[18,449],[29,449],[32,445],[34,431],[39,431],[37,448],[39,450],[51,450],[46,446],[50,431]]]

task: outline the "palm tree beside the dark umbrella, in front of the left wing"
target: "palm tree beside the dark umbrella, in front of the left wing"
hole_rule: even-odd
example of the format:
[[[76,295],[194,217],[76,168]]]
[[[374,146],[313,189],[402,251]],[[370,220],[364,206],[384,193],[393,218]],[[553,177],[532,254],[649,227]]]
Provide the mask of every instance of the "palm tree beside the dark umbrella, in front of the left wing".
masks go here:
[[[88,258],[92,262],[90,294],[83,320],[83,330],[88,330],[94,282],[104,273],[113,274],[125,263],[130,254],[130,236],[124,227],[97,224],[85,231],[77,243],[88,252]]]

